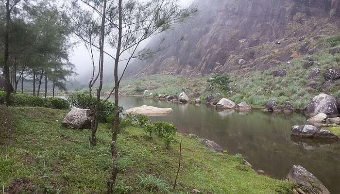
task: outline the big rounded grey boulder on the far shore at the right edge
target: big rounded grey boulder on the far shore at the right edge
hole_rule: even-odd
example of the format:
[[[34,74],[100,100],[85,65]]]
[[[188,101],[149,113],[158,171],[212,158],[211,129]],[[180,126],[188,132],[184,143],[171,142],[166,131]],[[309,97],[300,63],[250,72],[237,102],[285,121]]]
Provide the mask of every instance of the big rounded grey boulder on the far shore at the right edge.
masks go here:
[[[312,101],[307,104],[304,111],[306,114],[312,116],[319,113],[334,116],[339,113],[336,99],[326,94],[319,94],[318,96],[313,97]]]

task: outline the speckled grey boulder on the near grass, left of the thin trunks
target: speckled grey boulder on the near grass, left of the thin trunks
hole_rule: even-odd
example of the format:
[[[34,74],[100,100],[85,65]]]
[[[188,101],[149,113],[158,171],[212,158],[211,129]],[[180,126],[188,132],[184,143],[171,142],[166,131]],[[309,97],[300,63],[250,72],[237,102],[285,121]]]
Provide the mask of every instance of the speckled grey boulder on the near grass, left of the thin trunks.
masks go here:
[[[94,113],[90,109],[73,108],[63,119],[63,126],[75,129],[90,129]]]

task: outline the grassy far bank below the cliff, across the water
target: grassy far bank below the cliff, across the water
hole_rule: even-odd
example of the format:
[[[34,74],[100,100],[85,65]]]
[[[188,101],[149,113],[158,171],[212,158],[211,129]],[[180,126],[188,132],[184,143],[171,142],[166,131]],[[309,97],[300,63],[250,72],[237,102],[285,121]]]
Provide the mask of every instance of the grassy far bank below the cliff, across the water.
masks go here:
[[[186,91],[191,99],[207,95],[228,97],[236,103],[246,102],[253,106],[264,106],[269,99],[276,99],[281,104],[288,100],[296,108],[304,108],[316,95],[327,93],[340,97],[340,80],[326,82],[323,74],[327,69],[339,68],[340,53],[329,54],[331,47],[340,46],[340,36],[315,40],[309,47],[322,48],[312,55],[297,55],[296,58],[280,65],[275,65],[268,70],[230,72],[232,82],[229,84],[232,93],[223,93],[217,88],[210,87],[207,80],[210,76],[200,78],[187,78],[178,75],[151,75],[138,79],[126,78],[121,83],[122,94],[142,95],[148,90],[148,97],[158,97],[157,94],[179,94]],[[310,49],[308,48],[308,49]],[[273,51],[275,52],[275,51]],[[310,67],[304,67],[308,59],[313,61]],[[310,74],[314,69],[320,73],[314,77]],[[273,77],[276,69],[286,69],[284,77]],[[112,86],[106,86],[109,90]],[[194,94],[199,93],[198,96]],[[221,95],[216,95],[220,93]]]

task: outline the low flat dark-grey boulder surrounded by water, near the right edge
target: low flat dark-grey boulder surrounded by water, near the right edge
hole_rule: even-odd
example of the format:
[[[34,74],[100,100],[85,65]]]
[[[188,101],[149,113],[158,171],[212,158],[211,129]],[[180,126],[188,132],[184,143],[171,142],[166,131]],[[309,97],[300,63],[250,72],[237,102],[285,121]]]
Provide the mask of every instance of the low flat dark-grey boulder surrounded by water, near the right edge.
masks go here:
[[[331,131],[312,125],[293,126],[290,134],[296,137],[339,139],[339,137],[334,135]]]

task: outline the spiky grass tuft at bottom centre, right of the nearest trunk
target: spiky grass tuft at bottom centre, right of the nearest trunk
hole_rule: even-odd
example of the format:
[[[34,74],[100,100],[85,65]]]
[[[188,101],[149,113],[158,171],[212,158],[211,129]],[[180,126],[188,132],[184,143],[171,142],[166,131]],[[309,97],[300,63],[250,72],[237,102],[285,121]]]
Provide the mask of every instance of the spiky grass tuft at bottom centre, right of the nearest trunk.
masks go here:
[[[150,192],[169,192],[170,184],[161,178],[156,178],[153,175],[137,175],[139,178],[139,186]]]

